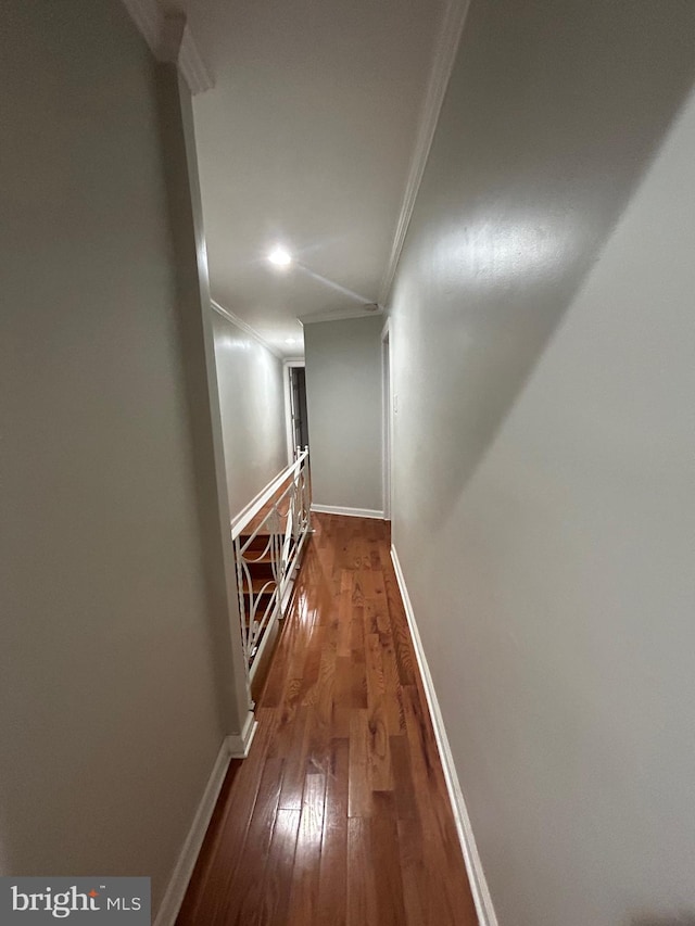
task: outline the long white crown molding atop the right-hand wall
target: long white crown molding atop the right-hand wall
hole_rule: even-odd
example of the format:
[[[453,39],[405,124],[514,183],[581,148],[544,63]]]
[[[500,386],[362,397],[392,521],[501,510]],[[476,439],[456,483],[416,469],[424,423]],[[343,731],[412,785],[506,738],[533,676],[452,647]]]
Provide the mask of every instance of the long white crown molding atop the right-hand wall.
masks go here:
[[[381,280],[379,288],[379,303],[386,305],[393,286],[396,267],[405,242],[405,236],[410,224],[413,210],[415,208],[415,200],[417,199],[418,190],[425,174],[425,166],[429,157],[439,114],[442,110],[444,96],[448,86],[448,80],[452,76],[456,52],[460,42],[460,36],[466,22],[466,14],[470,5],[469,0],[447,0],[446,9],[442,17],[437,42],[434,46],[434,62],[430,79],[427,86],[425,103],[422,105],[422,114],[418,127],[417,139],[413,157],[410,158],[410,167],[408,170],[408,179],[405,186],[403,203],[395,227],[391,254],[389,263]]]

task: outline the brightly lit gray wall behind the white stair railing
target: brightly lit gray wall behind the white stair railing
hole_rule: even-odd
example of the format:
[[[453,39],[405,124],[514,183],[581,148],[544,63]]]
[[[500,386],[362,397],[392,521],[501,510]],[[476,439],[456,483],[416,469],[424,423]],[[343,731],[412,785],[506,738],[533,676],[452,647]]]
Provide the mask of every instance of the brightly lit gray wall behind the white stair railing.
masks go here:
[[[287,466],[282,361],[211,309],[233,518]]]

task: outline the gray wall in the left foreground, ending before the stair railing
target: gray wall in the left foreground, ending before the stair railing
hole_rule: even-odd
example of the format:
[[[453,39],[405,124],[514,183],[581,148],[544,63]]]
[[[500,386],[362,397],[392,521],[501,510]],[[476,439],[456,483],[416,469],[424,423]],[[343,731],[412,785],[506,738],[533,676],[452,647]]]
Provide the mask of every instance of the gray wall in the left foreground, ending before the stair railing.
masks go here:
[[[177,77],[118,0],[2,16],[0,873],[156,909],[233,732]]]

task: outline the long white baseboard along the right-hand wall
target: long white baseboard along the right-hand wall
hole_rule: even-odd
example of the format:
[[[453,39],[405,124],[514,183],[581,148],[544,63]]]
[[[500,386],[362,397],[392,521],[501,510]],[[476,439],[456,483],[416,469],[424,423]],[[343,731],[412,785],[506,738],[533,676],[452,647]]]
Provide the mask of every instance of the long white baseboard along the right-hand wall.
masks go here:
[[[452,756],[448,737],[446,736],[446,730],[444,727],[444,720],[437,699],[437,693],[434,690],[434,684],[432,682],[429,665],[427,664],[425,650],[422,649],[422,640],[420,639],[415,613],[413,611],[413,605],[403,576],[403,570],[401,569],[401,563],[399,561],[399,555],[394,546],[391,547],[391,559],[393,560],[393,569],[395,570],[395,578],[399,583],[399,588],[401,589],[401,597],[403,598],[403,606],[405,608],[405,614],[410,629],[410,636],[413,637],[415,656],[422,677],[425,695],[430,709],[430,716],[432,718],[434,738],[437,739],[440,759],[442,760],[442,768],[446,779],[446,789],[448,790],[448,798],[452,803],[452,810],[454,811],[454,820],[456,821],[458,839],[464,852],[464,861],[466,862],[466,871],[468,872],[468,880],[470,881],[470,890],[476,903],[478,919],[480,921],[480,926],[497,926],[497,917],[492,905],[492,898],[490,897],[488,881],[485,880],[485,873],[482,868],[482,862],[478,853],[478,847],[476,846],[476,838],[470,825],[470,817],[466,808],[466,801],[464,800],[464,795],[458,782],[456,766],[454,765],[454,758]]]

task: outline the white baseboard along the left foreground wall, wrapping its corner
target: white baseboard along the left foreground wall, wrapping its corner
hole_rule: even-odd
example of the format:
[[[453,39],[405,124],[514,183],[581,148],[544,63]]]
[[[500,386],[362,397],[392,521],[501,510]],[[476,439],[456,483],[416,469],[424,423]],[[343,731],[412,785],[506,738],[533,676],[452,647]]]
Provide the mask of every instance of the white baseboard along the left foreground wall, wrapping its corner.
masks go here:
[[[213,771],[207,779],[203,797],[195,811],[193,823],[188,832],[174,873],[160,904],[154,926],[174,926],[176,923],[176,917],[184,902],[188,883],[193,874],[193,868],[195,867],[207,826],[215,810],[229,762],[231,759],[245,759],[257,726],[258,724],[254,720],[253,713],[249,712],[243,733],[239,736],[225,737],[215,760]]]

